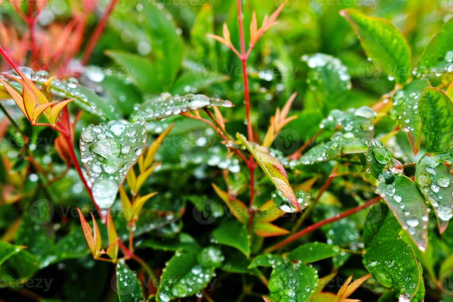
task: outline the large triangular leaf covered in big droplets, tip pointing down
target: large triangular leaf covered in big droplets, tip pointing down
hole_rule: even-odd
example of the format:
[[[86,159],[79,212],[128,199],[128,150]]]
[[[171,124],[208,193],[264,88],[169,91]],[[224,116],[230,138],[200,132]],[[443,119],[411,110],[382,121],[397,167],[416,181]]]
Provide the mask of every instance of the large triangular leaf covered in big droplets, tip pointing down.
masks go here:
[[[129,169],[137,162],[146,143],[145,120],[134,123],[112,120],[89,125],[80,134],[80,155],[92,183],[94,201],[108,209]]]

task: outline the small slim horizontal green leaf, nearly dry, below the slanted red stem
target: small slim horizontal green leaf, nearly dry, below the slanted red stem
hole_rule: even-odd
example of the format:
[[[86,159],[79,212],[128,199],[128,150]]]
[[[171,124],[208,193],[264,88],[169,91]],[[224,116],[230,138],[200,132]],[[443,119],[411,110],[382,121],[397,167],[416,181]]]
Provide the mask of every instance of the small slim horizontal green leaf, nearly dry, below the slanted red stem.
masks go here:
[[[342,253],[338,245],[323,242],[306,243],[289,253],[289,259],[296,259],[303,263],[316,262]]]

